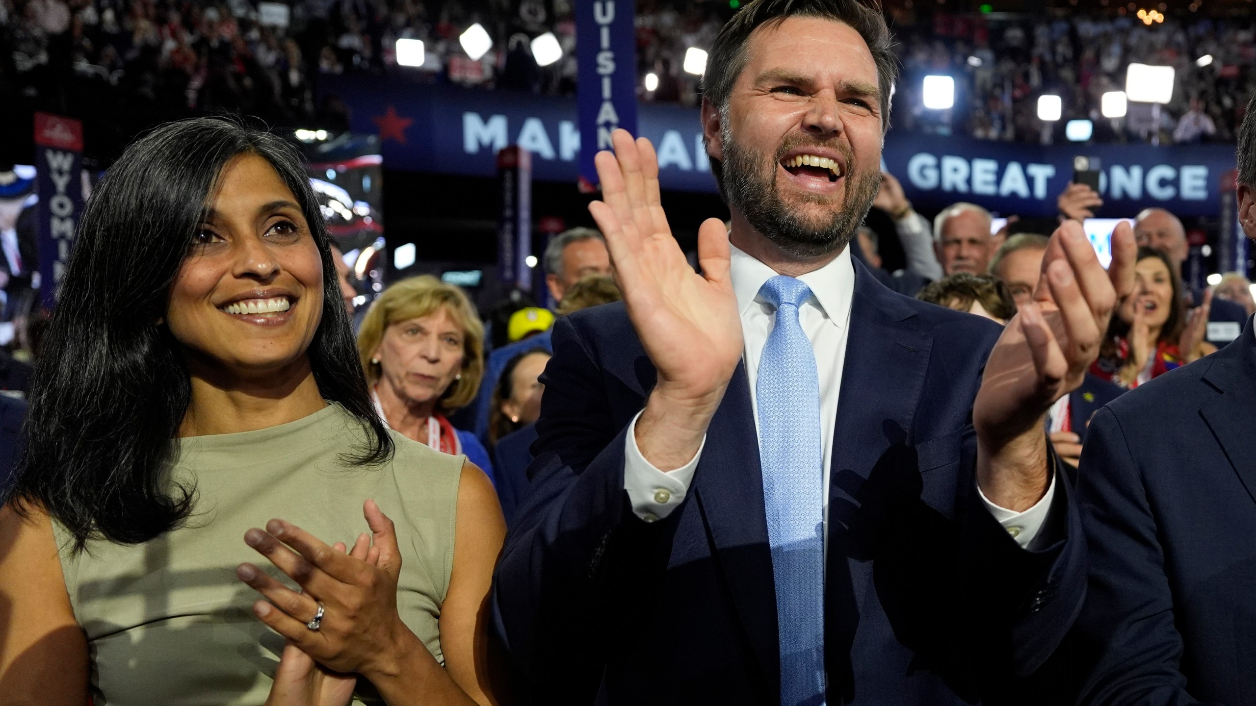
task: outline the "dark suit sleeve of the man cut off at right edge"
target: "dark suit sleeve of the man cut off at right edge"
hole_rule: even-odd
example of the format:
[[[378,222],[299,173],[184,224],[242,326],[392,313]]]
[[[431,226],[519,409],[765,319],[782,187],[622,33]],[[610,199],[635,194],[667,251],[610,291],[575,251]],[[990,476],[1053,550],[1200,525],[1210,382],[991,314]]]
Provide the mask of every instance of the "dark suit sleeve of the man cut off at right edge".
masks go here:
[[[1078,504],[1090,548],[1090,580],[1075,638],[1079,703],[1198,703],[1178,671],[1182,637],[1164,554],[1138,464],[1117,416],[1100,410],[1081,452]]]

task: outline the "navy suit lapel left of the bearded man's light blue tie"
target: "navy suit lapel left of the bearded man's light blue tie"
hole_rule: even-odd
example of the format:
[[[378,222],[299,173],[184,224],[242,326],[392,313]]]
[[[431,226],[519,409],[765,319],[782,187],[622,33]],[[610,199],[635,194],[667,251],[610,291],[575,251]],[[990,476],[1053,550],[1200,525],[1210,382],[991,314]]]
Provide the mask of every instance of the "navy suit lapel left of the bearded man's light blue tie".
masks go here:
[[[693,486],[715,545],[716,562],[725,574],[755,657],[775,693],[780,688],[776,589],[767,543],[759,437],[745,363],[737,364],[707,428]]]

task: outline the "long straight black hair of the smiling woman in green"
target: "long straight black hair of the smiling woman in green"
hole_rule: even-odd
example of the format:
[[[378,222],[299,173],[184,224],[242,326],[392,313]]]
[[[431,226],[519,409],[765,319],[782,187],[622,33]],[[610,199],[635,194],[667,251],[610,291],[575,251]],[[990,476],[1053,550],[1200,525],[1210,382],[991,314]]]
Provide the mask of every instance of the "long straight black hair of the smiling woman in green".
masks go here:
[[[195,489],[172,486],[167,475],[191,383],[163,322],[219,175],[246,153],[279,172],[323,259],[323,318],[308,350],[319,392],[368,431],[355,462],[391,457],[300,153],[230,118],[168,123],[131,144],[88,200],[35,366],[13,497],[19,511],[48,511],[75,549],[89,538],[147,541],[192,510]]]

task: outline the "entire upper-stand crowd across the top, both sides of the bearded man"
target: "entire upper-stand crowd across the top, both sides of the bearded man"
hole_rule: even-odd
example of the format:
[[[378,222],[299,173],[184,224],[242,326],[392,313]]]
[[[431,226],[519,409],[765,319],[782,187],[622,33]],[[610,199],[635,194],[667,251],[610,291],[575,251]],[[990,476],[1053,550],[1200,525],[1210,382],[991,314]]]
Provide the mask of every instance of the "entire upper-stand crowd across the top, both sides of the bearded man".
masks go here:
[[[263,6],[264,5],[264,6]],[[319,98],[324,74],[406,70],[433,83],[575,93],[575,21],[570,0],[0,0],[0,94],[38,104],[82,107],[137,132],[160,119],[215,112],[249,113],[280,126],[345,129],[347,113]],[[1064,119],[1095,119],[1095,138],[1162,143],[1233,139],[1241,99],[1253,88],[1252,21],[1172,16],[1144,26],[1133,15],[1071,19],[896,13],[903,80],[899,129],[1037,142],[1036,99],[1056,92]],[[643,100],[696,106],[700,77],[682,70],[690,46],[710,46],[734,13],[727,3],[644,0],[637,6],[638,68],[657,88]],[[486,26],[494,48],[476,60],[458,35]],[[553,31],[563,58],[538,67],[529,39]],[[426,63],[396,65],[396,40],[421,39]],[[1211,55],[1208,65],[1196,60]],[[1103,119],[1099,98],[1124,88],[1130,62],[1177,69],[1173,102],[1153,126],[1149,104]],[[921,78],[957,79],[956,107],[929,111]],[[1054,127],[1063,129],[1065,121]],[[119,134],[126,142],[128,134]]]

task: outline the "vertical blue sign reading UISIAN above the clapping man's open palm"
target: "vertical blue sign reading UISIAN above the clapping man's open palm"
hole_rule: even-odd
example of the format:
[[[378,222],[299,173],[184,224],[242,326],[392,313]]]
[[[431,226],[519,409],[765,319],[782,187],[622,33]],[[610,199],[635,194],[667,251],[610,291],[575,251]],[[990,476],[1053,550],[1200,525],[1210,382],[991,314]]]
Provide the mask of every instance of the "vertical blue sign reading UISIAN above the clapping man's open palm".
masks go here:
[[[610,133],[637,134],[637,31],[632,0],[575,4],[580,178],[598,183],[593,156],[610,149]]]

